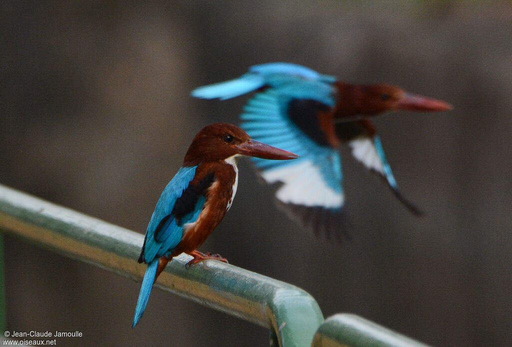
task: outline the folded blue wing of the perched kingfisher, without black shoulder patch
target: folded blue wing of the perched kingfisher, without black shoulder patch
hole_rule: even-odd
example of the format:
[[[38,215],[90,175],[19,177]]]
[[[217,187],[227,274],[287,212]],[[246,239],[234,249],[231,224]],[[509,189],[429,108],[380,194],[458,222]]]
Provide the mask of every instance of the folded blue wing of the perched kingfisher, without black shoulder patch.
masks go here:
[[[176,247],[183,236],[183,225],[195,221],[201,213],[204,204],[204,197],[201,196],[187,202],[189,207],[186,214],[176,213],[175,210],[175,205],[180,206],[183,197],[186,198],[185,192],[191,188],[189,184],[194,179],[196,168],[180,168],[163,190],[147,226],[139,263],[150,263]]]

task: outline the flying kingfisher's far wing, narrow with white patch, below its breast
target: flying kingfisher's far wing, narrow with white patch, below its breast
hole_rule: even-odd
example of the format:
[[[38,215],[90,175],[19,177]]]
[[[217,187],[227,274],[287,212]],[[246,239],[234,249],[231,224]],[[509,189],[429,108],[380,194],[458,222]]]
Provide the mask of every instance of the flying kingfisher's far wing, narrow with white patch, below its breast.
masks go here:
[[[353,122],[337,123],[335,127],[340,141],[350,146],[354,158],[368,170],[379,174],[409,211],[415,215],[421,215],[422,211],[414,203],[404,198],[398,189],[373,124],[368,119],[361,119]]]

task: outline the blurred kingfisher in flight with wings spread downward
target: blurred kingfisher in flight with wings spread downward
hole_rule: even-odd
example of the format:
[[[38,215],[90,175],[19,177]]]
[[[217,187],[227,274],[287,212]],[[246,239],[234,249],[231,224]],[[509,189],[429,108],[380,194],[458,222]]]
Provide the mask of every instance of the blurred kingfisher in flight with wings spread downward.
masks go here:
[[[389,110],[445,111],[440,100],[385,84],[354,85],[291,63],[254,65],[241,77],[199,87],[197,98],[221,100],[257,91],[240,115],[241,127],[259,141],[301,156],[287,163],[253,159],[268,183],[280,182],[276,202],[316,235],[346,231],[341,159],[346,144],[367,169],[378,173],[414,214],[421,211],[398,190],[376,129],[368,116]]]

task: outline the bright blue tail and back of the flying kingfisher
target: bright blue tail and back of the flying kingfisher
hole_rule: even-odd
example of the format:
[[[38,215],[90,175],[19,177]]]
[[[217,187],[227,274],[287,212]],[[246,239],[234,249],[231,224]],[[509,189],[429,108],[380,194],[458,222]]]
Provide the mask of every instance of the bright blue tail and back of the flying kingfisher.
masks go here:
[[[291,63],[267,63],[254,65],[247,74],[226,82],[210,84],[194,89],[191,95],[195,98],[226,100],[264,86],[279,87],[297,80],[314,80],[332,83],[335,78],[321,75],[309,67]]]

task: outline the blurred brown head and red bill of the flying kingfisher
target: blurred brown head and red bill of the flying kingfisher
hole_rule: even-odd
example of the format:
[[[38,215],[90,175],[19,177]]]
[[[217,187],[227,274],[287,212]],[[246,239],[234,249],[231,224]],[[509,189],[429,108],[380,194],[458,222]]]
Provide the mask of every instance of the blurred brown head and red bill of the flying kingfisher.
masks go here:
[[[336,82],[339,90],[337,117],[372,115],[390,110],[447,111],[452,105],[441,100],[411,94],[389,84],[353,85]]]

